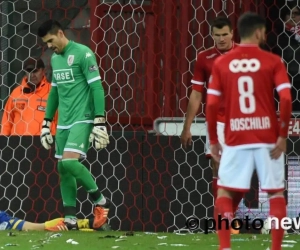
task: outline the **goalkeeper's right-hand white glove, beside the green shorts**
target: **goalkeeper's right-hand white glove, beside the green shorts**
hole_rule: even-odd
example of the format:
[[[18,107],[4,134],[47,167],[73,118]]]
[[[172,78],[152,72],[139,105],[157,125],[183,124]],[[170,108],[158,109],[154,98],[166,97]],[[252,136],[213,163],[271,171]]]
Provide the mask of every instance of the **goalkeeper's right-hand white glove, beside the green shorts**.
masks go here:
[[[109,137],[107,134],[106,124],[104,117],[96,117],[94,119],[94,128],[90,135],[90,142],[95,141],[95,148],[106,148],[109,144]]]

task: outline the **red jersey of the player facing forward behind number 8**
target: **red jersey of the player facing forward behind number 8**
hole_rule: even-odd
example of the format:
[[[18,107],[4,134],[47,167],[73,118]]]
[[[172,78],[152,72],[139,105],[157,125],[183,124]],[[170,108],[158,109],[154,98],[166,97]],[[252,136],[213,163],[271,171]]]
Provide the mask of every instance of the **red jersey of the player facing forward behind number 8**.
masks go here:
[[[233,43],[232,48],[228,51],[231,51],[236,46],[237,45]],[[213,63],[219,56],[226,54],[228,51],[220,51],[216,47],[211,47],[198,54],[194,68],[194,76],[191,82],[193,84],[193,90],[202,93],[202,103],[205,103],[206,101],[207,86],[205,86],[205,83],[207,85],[209,81]],[[205,109],[203,109],[203,114],[205,114]],[[218,121],[225,122],[224,105],[220,106],[220,110],[218,112]]]

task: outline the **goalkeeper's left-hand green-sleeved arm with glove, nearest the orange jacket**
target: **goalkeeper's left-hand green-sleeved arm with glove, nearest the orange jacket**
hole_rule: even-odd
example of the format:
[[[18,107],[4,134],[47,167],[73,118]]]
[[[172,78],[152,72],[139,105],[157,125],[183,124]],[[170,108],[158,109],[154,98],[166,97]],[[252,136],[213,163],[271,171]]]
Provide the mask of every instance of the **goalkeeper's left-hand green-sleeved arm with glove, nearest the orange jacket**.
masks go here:
[[[45,149],[50,149],[51,145],[53,144],[53,137],[51,134],[51,123],[55,116],[55,113],[58,108],[58,91],[57,91],[57,83],[55,81],[54,75],[52,75],[52,83],[51,83],[51,90],[48,95],[47,106],[46,106],[46,113],[45,118],[42,124],[42,131],[41,131],[41,143]]]

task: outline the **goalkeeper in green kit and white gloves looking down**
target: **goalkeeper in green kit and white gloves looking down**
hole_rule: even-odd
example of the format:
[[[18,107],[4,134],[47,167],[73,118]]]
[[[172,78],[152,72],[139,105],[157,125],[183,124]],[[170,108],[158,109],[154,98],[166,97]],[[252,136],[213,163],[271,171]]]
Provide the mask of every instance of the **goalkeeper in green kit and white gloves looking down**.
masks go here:
[[[110,201],[99,191],[91,173],[79,162],[86,157],[90,142],[96,149],[109,144],[104,116],[105,100],[94,53],[86,46],[68,40],[60,23],[44,22],[38,36],[53,53],[52,88],[41,131],[41,143],[50,149],[53,137],[51,121],[58,110],[55,157],[58,158],[60,190],[64,206],[64,223],[78,229],[76,218],[77,182],[94,201],[94,228],[107,222]]]

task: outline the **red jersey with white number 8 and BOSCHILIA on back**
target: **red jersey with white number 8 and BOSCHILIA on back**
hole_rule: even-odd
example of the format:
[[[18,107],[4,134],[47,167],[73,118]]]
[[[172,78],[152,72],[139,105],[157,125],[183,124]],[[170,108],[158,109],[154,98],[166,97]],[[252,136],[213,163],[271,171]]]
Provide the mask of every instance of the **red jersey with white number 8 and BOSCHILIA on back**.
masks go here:
[[[280,96],[280,126],[274,103]],[[215,61],[208,89],[207,121],[211,143],[217,142],[218,99],[225,102],[225,144],[258,147],[286,137],[291,115],[291,84],[280,57],[255,45],[240,45]]]

